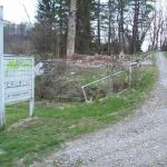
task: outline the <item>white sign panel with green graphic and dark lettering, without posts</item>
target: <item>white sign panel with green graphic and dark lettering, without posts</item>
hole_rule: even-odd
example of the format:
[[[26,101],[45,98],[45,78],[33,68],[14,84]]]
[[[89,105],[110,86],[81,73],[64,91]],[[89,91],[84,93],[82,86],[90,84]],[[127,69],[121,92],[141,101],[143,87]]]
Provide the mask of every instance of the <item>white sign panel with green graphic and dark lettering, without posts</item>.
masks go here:
[[[33,98],[33,58],[4,56],[6,105]]]

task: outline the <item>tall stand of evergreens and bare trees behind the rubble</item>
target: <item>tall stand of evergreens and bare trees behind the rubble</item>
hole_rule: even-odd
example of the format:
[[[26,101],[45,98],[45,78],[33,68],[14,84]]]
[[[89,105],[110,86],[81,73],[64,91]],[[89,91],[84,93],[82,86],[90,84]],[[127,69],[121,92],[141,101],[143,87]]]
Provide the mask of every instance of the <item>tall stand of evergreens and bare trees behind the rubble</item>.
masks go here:
[[[69,48],[79,55],[135,53],[148,36],[156,49],[165,20],[155,6],[155,0],[38,0],[30,40],[37,53],[55,58]]]

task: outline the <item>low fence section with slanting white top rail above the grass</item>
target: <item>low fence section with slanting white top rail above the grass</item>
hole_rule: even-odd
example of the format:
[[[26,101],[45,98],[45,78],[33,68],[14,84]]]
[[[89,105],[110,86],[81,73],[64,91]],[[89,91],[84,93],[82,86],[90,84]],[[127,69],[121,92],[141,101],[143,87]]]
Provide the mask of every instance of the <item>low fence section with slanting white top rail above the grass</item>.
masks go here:
[[[137,66],[137,63],[136,63]],[[118,94],[124,89],[136,86],[140,80],[139,67],[122,69],[99,80],[82,86],[86,102],[104,98],[108,94]]]

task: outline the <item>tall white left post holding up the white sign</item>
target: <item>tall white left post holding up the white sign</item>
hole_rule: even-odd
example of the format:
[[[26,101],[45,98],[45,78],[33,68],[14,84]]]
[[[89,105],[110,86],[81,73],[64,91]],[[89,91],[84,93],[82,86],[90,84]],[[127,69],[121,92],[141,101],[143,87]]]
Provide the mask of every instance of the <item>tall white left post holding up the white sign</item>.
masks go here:
[[[0,125],[4,125],[3,7],[0,6]]]

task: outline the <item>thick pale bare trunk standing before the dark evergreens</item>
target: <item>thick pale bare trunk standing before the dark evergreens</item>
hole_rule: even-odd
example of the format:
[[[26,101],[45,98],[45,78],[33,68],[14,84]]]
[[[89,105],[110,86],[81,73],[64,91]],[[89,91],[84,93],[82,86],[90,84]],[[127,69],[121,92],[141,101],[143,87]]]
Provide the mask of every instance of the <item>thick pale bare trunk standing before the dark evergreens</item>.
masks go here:
[[[70,58],[75,53],[76,11],[77,11],[76,8],[77,8],[77,0],[71,0],[70,14],[68,21],[67,58]]]

